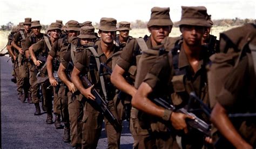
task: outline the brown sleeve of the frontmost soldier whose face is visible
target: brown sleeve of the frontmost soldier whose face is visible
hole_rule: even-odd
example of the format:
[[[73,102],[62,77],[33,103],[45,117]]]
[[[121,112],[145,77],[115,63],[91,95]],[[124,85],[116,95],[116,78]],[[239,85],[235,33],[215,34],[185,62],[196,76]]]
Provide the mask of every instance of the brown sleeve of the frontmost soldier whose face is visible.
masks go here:
[[[149,73],[145,76],[144,82],[154,89],[157,84],[166,84],[169,82],[172,67],[169,65],[168,55],[159,56],[156,63],[152,66]]]

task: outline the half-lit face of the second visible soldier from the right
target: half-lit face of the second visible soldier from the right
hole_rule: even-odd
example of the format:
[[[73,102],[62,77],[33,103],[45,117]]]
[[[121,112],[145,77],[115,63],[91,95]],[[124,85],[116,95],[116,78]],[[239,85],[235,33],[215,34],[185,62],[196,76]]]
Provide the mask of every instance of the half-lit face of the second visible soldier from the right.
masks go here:
[[[172,30],[172,26],[150,26],[149,32],[151,33],[152,44],[156,43],[157,45],[161,44],[161,41],[169,36],[169,33]]]

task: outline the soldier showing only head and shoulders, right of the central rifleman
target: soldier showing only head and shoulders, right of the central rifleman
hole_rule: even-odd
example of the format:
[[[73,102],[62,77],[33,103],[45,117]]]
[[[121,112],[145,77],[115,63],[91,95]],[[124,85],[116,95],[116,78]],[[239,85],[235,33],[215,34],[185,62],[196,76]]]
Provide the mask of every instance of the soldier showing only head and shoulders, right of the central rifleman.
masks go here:
[[[129,36],[131,30],[130,22],[119,22],[119,27],[117,28],[119,34],[116,36],[117,46],[120,46],[120,48],[125,47],[126,43],[132,39],[132,37]]]

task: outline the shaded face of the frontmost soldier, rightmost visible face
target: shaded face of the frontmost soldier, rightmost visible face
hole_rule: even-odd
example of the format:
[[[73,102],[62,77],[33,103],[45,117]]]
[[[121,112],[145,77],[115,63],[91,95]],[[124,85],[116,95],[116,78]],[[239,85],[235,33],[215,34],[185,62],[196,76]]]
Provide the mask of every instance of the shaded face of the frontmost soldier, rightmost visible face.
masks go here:
[[[204,26],[183,25],[180,28],[183,39],[188,46],[200,46],[205,32]]]

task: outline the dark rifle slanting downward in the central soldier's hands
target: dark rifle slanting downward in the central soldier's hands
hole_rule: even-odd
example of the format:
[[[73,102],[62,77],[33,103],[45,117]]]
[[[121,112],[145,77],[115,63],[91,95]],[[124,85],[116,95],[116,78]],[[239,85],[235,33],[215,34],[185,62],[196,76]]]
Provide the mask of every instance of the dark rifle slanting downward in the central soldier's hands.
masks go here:
[[[82,81],[83,86],[87,89],[92,86],[91,82],[87,79],[86,76],[81,76],[80,80]],[[107,120],[113,125],[114,129],[118,130],[119,123],[117,119],[113,116],[113,113],[107,108],[106,101],[99,95],[96,89],[92,89],[91,93],[95,96],[95,103],[99,106],[101,112],[106,117]]]

